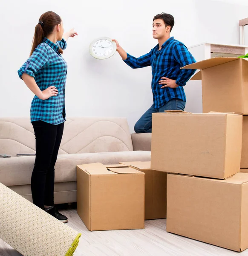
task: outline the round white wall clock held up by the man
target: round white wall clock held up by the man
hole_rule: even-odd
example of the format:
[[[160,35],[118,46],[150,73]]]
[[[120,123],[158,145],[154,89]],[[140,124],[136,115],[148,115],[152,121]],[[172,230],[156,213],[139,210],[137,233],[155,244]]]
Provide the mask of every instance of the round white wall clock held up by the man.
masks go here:
[[[110,38],[98,38],[89,46],[89,53],[98,59],[110,58],[116,51],[116,44]]]

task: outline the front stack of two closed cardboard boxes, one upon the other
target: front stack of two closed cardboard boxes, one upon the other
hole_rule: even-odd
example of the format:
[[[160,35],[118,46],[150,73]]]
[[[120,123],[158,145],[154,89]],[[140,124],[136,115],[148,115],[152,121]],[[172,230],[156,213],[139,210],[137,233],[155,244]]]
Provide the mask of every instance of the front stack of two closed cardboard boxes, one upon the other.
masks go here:
[[[168,173],[167,232],[232,250],[248,247],[241,146],[241,115],[153,114],[151,168]]]

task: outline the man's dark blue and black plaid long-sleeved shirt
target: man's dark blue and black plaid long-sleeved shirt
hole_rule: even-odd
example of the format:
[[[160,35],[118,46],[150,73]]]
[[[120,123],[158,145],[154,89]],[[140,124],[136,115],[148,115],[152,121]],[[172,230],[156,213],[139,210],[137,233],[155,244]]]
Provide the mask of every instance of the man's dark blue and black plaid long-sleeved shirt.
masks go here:
[[[180,67],[192,64],[196,60],[183,43],[171,37],[164,42],[160,51],[159,45],[156,45],[149,53],[139,58],[135,58],[127,53],[127,59],[124,62],[132,68],[152,66],[154,108],[160,108],[171,99],[182,99],[186,102],[183,86],[196,70],[180,70]],[[161,89],[161,86],[164,85],[159,84],[161,77],[176,80],[176,84],[179,87],[175,89],[169,87]]]

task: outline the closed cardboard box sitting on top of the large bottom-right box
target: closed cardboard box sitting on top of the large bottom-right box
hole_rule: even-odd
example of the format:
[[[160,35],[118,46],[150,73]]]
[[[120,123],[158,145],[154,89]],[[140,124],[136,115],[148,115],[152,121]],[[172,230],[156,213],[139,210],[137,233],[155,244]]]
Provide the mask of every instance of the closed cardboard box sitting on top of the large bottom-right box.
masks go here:
[[[225,179],[239,172],[242,116],[153,113],[151,169]]]

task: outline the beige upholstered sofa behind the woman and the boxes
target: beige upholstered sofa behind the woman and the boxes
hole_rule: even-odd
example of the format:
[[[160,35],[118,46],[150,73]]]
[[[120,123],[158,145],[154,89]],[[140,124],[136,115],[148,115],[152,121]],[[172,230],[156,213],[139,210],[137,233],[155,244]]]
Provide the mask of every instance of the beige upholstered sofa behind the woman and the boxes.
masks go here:
[[[55,166],[55,204],[76,202],[76,166],[100,162],[150,161],[151,134],[130,134],[127,119],[118,117],[67,118]],[[29,118],[0,118],[0,183],[32,201],[30,180],[35,135]]]

